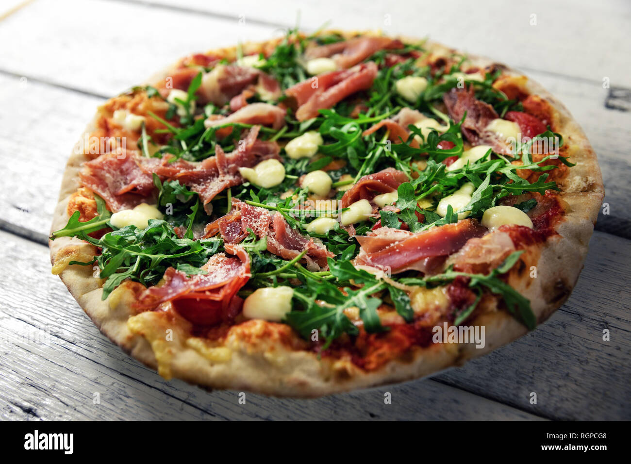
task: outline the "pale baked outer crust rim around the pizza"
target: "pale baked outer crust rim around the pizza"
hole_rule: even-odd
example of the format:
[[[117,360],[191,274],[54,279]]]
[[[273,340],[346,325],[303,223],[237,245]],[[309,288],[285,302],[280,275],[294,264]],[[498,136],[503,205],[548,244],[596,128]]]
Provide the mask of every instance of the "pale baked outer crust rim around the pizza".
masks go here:
[[[334,32],[342,33],[345,37],[357,34]],[[405,42],[420,42],[418,39],[401,39]],[[278,43],[278,40],[245,44],[244,52],[255,53],[266,46]],[[425,43],[425,47],[435,54],[448,55],[455,52],[433,42]],[[236,48],[212,52],[234,57]],[[486,58],[469,55],[469,60],[475,66],[502,66],[505,73],[521,75]],[[148,83],[162,80],[174,68],[175,66],[171,66],[154,74]],[[565,143],[569,146],[571,160],[576,163],[564,179],[560,195],[569,205],[569,210],[563,222],[557,227],[559,235],[551,237],[540,249],[540,259],[536,263],[538,277],[529,281],[513,275],[509,277],[509,282],[531,300],[537,322],[541,323],[565,302],[575,285],[587,254],[587,246],[603,200],[604,189],[596,154],[569,111],[538,83],[528,79],[526,89],[529,93],[539,95],[550,102],[555,110],[555,128],[563,134]],[[98,112],[86,128],[85,134],[89,135],[95,129],[97,117]],[[69,158],[51,230],[61,229],[68,222],[68,200],[80,187],[78,172],[86,160],[85,155],[76,153]],[[53,265],[69,252],[91,253],[92,256],[95,252],[95,247],[76,238],[61,237],[49,241],[49,245]],[[267,334],[266,330],[269,330],[272,324],[254,320],[247,323],[247,333],[235,330],[235,333],[228,335],[225,348],[228,348],[229,353],[223,351],[221,359],[218,359],[212,356],[213,347],[200,348],[187,341],[186,331],[179,329],[180,326],[186,326],[187,322],[184,319],[169,321],[165,318],[166,313],[160,312],[144,312],[136,316],[131,305],[134,294],[126,285],[114,290],[107,300],[101,300],[101,282],[100,279],[93,277],[90,266],[67,266],[61,271],[60,277],[103,334],[147,366],[159,368],[161,374],[207,388],[247,390],[267,395],[314,397],[416,379],[487,354],[528,331],[506,311],[496,308],[495,311],[485,312],[471,322],[471,325],[485,326],[484,348],[475,348],[473,344],[449,343],[433,344],[428,348],[416,347],[405,359],[392,360],[376,371],[365,372],[350,361],[327,358],[319,360],[312,352],[292,350],[273,339],[266,342],[262,335]],[[128,324],[129,318],[134,316],[140,318],[133,319],[139,323]],[[148,320],[143,323],[141,319]],[[130,325],[133,331],[130,330]],[[153,333],[149,333],[152,327]],[[162,331],[168,329],[174,331],[173,340],[164,343]],[[257,333],[261,336],[253,342],[252,334]],[[155,350],[162,362],[156,359]],[[168,365],[166,367],[165,360]]]

